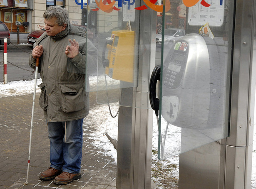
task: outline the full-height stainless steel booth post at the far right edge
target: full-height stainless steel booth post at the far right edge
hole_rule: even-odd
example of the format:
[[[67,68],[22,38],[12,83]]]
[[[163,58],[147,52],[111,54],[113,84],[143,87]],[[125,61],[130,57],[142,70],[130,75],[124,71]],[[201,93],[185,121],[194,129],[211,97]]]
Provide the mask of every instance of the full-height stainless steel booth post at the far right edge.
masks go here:
[[[251,188],[256,62],[252,61],[255,0],[237,0],[231,91],[230,137],[226,140],[225,188]],[[255,60],[254,60],[255,61]]]

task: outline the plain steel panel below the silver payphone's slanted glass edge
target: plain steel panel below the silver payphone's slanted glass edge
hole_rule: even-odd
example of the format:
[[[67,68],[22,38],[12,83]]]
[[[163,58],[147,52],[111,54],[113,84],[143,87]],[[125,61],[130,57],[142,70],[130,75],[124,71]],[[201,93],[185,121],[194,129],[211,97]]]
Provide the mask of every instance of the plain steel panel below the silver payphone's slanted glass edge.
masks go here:
[[[179,189],[223,189],[226,146],[211,142],[180,154]]]

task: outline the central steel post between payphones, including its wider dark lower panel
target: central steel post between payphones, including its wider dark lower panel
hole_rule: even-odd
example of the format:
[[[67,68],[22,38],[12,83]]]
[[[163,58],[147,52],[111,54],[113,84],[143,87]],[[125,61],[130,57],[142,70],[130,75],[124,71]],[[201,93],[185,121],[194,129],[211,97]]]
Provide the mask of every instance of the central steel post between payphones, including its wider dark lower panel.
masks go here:
[[[148,89],[155,66],[157,12],[147,9],[139,16],[138,84],[124,88],[122,95],[133,108],[121,106],[119,110],[117,189],[151,187],[153,111],[148,109]]]

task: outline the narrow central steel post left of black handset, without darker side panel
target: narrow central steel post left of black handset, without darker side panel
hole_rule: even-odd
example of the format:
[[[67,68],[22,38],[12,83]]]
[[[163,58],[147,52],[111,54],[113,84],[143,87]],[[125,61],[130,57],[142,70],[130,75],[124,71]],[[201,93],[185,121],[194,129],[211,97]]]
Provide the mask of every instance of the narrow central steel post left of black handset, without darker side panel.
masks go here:
[[[136,88],[134,127],[134,189],[148,189],[151,185],[152,110],[149,110],[149,79],[154,67],[157,12],[143,11],[140,19],[140,56],[138,87]],[[149,24],[150,23],[150,24]]]

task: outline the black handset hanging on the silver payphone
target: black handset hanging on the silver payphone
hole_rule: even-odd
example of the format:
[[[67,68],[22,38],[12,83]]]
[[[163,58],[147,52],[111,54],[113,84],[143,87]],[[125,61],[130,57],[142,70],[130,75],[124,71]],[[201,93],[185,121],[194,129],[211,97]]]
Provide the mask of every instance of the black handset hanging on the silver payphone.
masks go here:
[[[159,115],[159,99],[157,98],[156,88],[157,81],[160,81],[160,71],[161,65],[155,66],[149,82],[149,101],[152,109],[155,110],[157,116]]]

